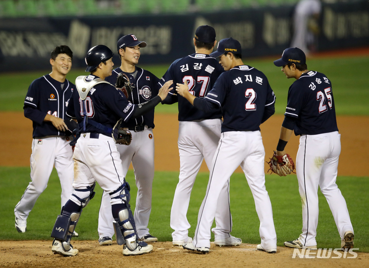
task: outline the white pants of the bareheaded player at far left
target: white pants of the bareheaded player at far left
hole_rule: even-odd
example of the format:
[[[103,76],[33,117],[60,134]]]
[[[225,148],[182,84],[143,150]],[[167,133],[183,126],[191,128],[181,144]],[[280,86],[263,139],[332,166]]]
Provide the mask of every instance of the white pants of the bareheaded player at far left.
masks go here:
[[[70,142],[69,137],[33,139],[31,182],[14,208],[18,219],[27,219],[37,198],[46,189],[54,165],[61,185],[61,206],[68,201],[73,192],[73,151]]]

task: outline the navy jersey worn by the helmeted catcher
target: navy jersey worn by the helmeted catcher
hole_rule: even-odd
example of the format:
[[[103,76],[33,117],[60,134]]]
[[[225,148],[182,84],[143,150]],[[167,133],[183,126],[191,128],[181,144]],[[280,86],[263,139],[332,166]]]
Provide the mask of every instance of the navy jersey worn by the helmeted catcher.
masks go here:
[[[86,80],[88,81],[96,78],[98,78],[98,76],[89,75]],[[114,128],[120,119],[128,122],[135,109],[135,105],[130,103],[126,97],[122,97],[113,85],[107,83],[97,84],[91,88],[85,100],[85,106],[88,119],[92,119],[109,128]],[[77,119],[78,124],[83,122],[83,106],[77,89],[72,93],[67,114],[71,118]],[[91,124],[87,124],[86,130],[81,130],[80,132],[101,133],[111,137],[111,135],[104,132],[104,130],[98,129]]]

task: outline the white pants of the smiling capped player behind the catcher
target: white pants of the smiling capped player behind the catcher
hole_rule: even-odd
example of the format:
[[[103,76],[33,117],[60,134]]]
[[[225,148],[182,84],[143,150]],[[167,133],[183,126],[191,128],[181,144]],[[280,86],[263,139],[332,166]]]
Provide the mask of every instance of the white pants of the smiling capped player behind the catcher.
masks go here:
[[[151,213],[152,183],[154,179],[154,135],[152,128],[139,132],[131,131],[130,145],[116,144],[124,176],[132,161],[137,186],[136,207],[134,220],[138,237],[149,234],[149,219]],[[131,185],[132,187],[132,185]],[[110,207],[110,196],[104,192],[98,217],[99,237],[112,237],[114,235],[113,216]]]

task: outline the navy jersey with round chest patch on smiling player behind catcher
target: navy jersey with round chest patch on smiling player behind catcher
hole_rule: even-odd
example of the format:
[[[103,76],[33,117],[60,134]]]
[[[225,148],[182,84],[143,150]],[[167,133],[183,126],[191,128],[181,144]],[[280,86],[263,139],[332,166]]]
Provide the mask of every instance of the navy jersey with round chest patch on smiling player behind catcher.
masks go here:
[[[130,82],[132,84],[132,95],[128,97],[129,101],[133,104],[141,104],[150,101],[152,98],[157,96],[160,85],[158,84],[159,79],[151,72],[144,70],[142,68],[136,67],[136,79],[133,77],[132,73],[124,72],[120,67],[113,70],[112,75],[107,77],[105,80],[110,84],[116,84],[116,79],[119,73],[127,74]],[[137,118],[130,119],[128,122],[122,122],[121,127],[134,127],[139,125],[147,125],[149,128],[154,128],[154,111],[149,112],[139,116]]]

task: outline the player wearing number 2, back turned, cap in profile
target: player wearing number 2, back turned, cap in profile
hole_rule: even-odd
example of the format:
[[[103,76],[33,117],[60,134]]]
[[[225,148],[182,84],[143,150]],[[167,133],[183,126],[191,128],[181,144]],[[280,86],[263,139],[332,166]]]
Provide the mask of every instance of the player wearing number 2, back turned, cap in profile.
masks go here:
[[[221,137],[212,161],[207,193],[202,201],[195,236],[183,248],[199,253],[209,253],[210,228],[219,205],[222,185],[240,165],[254,196],[260,220],[261,244],[257,249],[276,253],[277,236],[273,222],[272,204],[265,189],[265,151],[260,134],[260,124],[274,113],[275,95],[267,77],[259,70],[244,65],[241,45],[232,38],[222,39],[217,51],[210,54],[220,57],[222,73],[205,98],[198,98],[185,85],[177,83],[177,92],[194,107],[210,112],[221,107],[223,124]]]

